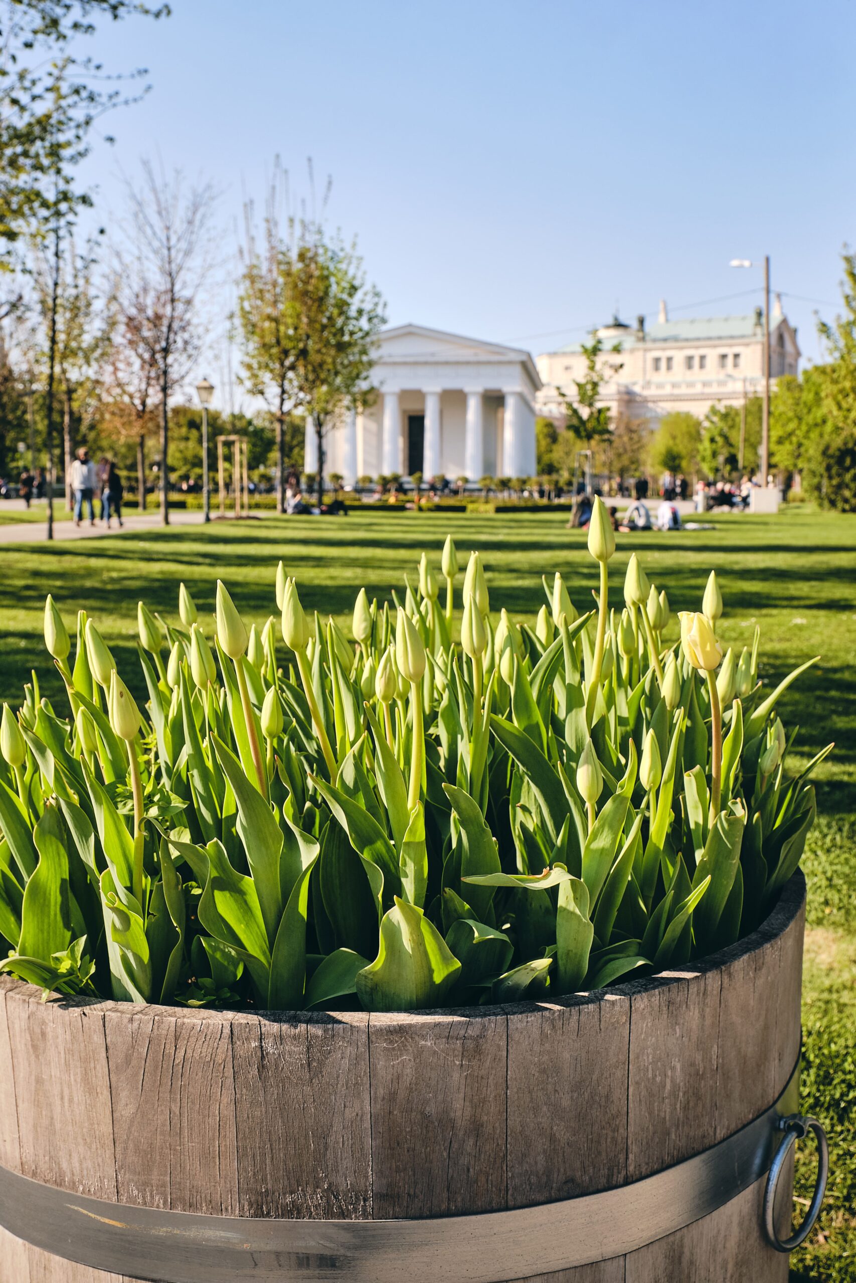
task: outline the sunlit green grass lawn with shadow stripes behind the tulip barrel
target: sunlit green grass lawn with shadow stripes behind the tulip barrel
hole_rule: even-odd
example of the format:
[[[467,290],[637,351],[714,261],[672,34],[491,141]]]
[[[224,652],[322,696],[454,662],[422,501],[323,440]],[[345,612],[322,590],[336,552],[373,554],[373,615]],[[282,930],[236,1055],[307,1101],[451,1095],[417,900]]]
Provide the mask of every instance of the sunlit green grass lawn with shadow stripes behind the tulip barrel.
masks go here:
[[[832,1139],[830,1193],[811,1246],[793,1257],[793,1278],[846,1283],[856,1278],[856,516],[793,507],[778,517],[712,518],[715,529],[620,536],[612,599],[621,603],[628,556],[637,549],[672,611],[699,609],[715,568],[725,600],[725,643],[751,642],[761,625],[761,675],[767,685],[814,654],[809,670],[782,701],[788,729],[800,724],[797,751],[807,758],[829,740],[835,752],[817,776],[820,819],[803,863],[809,878],[805,970],[806,1112],[817,1114]],[[31,667],[42,692],[59,694],[41,636],[47,591],[68,624],[78,607],[92,613],[126,676],[136,662],[136,603],[177,617],[178,584],[200,611],[213,609],[222,577],[248,620],[276,613],[273,575],[282,558],[298,579],[303,604],[349,622],[364,584],[370,598],[402,582],[425,548],[439,566],[447,532],[459,552],[480,548],[494,607],[534,618],[544,600],[542,574],[561,570],[583,609],[595,586],[585,536],[557,514],[458,516],[376,512],[317,521],[258,521],[175,527],[54,547],[0,548],[0,699],[19,701]],[[670,625],[676,635],[676,621]],[[139,694],[142,692],[139,689]],[[814,1175],[806,1164],[805,1177]],[[802,1173],[801,1173],[802,1175]],[[806,1188],[800,1189],[801,1194]]]

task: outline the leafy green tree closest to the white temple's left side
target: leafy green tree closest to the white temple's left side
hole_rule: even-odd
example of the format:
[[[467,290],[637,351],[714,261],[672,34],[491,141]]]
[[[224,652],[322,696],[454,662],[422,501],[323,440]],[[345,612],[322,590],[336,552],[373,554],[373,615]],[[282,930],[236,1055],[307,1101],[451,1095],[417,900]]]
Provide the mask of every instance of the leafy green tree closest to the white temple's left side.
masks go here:
[[[294,287],[300,336],[294,378],[314,422],[321,504],[325,439],[349,409],[364,407],[375,394],[375,340],[385,310],[380,293],[366,284],[355,248],[338,237],[327,240],[320,225],[303,230]]]

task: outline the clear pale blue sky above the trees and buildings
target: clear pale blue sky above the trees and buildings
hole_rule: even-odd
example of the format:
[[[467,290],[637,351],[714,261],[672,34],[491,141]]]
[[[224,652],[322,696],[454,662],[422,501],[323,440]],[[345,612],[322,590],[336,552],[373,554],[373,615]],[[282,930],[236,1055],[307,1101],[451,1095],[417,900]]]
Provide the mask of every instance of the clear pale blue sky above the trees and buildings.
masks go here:
[[[393,325],[538,353],[661,296],[747,312],[760,271],[728,262],[769,253],[816,355],[802,300],[856,239],[853,0],[171,3],[87,41],[153,83],[87,162],[101,217],[159,154],[222,190],[231,253],[273,157],[304,191],[312,157]]]

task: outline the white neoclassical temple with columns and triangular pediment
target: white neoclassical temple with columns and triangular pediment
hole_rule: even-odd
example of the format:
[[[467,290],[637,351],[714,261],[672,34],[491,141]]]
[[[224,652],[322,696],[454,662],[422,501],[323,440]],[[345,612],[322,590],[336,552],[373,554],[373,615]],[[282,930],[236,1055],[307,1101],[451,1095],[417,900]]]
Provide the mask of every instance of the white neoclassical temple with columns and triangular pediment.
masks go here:
[[[377,341],[377,395],[326,438],[325,472],[425,481],[535,473],[535,393],[542,381],[527,352],[403,325]],[[307,425],[305,471],[318,455]]]

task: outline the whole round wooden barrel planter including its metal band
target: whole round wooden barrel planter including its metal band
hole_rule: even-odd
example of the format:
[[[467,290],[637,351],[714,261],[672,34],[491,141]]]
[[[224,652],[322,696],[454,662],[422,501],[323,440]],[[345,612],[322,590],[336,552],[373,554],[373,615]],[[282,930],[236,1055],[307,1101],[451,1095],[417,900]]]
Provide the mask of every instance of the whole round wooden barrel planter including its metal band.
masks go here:
[[[785,1283],[761,1203],[803,917],[797,874],[685,970],[418,1015],[45,1003],[4,979],[0,1280]]]

